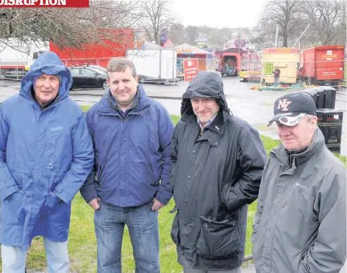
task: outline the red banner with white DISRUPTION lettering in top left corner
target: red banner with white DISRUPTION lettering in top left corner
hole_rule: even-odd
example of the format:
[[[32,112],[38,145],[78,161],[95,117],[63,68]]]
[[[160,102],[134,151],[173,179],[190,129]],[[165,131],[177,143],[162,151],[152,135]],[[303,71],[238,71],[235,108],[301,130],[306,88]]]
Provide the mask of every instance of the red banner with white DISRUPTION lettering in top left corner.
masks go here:
[[[0,0],[0,8],[88,8],[89,0]]]

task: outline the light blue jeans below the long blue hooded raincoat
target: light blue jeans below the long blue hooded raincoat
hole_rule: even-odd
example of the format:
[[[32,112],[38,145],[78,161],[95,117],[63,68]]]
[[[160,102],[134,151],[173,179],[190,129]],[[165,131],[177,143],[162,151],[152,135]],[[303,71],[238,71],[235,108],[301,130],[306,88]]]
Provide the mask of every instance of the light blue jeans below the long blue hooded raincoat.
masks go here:
[[[70,260],[68,260],[68,241],[56,243],[44,238],[47,266],[49,273],[68,273]],[[19,246],[1,245],[2,272],[24,273],[27,252]]]

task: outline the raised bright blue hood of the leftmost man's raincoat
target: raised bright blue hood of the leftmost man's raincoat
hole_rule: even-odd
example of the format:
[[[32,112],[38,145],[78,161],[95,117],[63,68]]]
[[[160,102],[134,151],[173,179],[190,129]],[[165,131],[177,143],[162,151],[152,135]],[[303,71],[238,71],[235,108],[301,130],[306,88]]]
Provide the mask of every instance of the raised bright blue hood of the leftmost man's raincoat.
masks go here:
[[[59,101],[68,97],[68,90],[70,90],[73,82],[72,75],[68,68],[61,62],[59,56],[52,51],[45,51],[34,61],[34,63],[32,63],[30,70],[22,79],[19,94],[27,99],[32,99],[30,93],[31,87],[34,84],[35,78],[42,74],[60,75],[61,77],[59,78],[61,78],[61,80],[58,97],[56,99]]]

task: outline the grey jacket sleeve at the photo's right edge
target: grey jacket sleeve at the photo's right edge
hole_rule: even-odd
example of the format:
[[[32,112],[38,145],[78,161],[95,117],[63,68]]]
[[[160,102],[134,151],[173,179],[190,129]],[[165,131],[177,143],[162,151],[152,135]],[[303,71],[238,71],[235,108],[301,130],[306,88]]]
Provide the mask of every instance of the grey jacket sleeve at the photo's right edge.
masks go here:
[[[314,205],[317,238],[303,253],[298,273],[339,273],[346,261],[346,169],[324,179]]]

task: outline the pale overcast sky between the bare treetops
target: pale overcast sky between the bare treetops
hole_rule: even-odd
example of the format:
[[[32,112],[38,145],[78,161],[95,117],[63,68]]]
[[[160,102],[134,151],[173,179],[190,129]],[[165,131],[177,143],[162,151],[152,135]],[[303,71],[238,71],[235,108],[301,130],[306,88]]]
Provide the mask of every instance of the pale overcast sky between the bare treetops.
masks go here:
[[[267,0],[171,0],[176,22],[212,28],[251,28],[257,25]],[[169,7],[168,7],[169,8]]]

